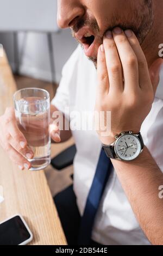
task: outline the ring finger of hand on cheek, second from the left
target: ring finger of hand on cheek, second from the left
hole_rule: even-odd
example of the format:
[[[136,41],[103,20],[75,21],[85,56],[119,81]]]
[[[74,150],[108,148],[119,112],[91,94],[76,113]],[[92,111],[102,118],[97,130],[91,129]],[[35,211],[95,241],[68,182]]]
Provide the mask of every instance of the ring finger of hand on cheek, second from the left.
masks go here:
[[[109,75],[110,90],[116,89],[123,91],[122,65],[111,31],[106,32],[103,44]]]

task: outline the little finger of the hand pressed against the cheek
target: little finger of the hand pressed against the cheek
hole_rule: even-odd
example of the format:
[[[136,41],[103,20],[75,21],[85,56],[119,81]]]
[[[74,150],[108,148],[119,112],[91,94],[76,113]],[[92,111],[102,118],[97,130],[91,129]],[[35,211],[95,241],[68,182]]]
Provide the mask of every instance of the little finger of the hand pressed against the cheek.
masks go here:
[[[109,77],[108,70],[106,68],[106,59],[104,46],[101,45],[98,48],[97,56],[97,95],[103,96],[109,92]]]

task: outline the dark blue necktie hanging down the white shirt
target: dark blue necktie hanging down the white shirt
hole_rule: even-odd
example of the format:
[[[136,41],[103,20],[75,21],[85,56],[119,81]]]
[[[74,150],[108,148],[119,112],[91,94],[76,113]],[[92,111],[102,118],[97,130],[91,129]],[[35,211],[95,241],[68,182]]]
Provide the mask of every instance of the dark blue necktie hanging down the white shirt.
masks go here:
[[[98,206],[101,201],[106,182],[108,181],[111,174],[111,170],[112,163],[102,149],[80,224],[78,237],[79,245],[90,244],[96,212],[98,210]]]

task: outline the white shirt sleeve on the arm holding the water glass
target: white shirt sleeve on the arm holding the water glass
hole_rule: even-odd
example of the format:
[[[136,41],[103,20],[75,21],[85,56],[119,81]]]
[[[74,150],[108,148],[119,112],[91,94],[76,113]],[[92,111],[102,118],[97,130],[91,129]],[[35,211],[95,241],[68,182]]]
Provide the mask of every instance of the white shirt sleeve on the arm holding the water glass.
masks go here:
[[[79,60],[79,47],[73,52],[70,59],[62,69],[62,77],[57,89],[57,93],[51,104],[54,105],[59,111],[65,113],[65,107],[70,107],[70,93],[74,83],[77,82],[77,68]]]

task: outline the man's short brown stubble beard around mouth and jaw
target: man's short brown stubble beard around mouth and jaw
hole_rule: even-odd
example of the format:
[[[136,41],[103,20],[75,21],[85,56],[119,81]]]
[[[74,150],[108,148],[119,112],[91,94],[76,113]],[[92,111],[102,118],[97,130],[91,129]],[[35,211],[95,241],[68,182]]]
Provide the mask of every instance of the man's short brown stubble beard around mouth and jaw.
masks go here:
[[[154,23],[154,10],[152,0],[144,0],[143,4],[137,9],[131,9],[131,12],[126,17],[113,16],[110,22],[110,26],[106,31],[112,31],[115,27],[120,27],[125,31],[126,29],[131,29],[136,35],[137,39],[142,45],[148,33],[151,31]],[[95,18],[89,17],[87,19],[80,19],[76,25],[71,28],[72,36],[75,37],[75,33],[78,32],[83,26],[88,26],[95,32],[98,36],[99,45],[103,44],[103,34],[100,33],[98,23]],[[83,46],[82,46],[83,48]],[[95,64],[97,68],[97,56],[89,57],[89,59]]]

